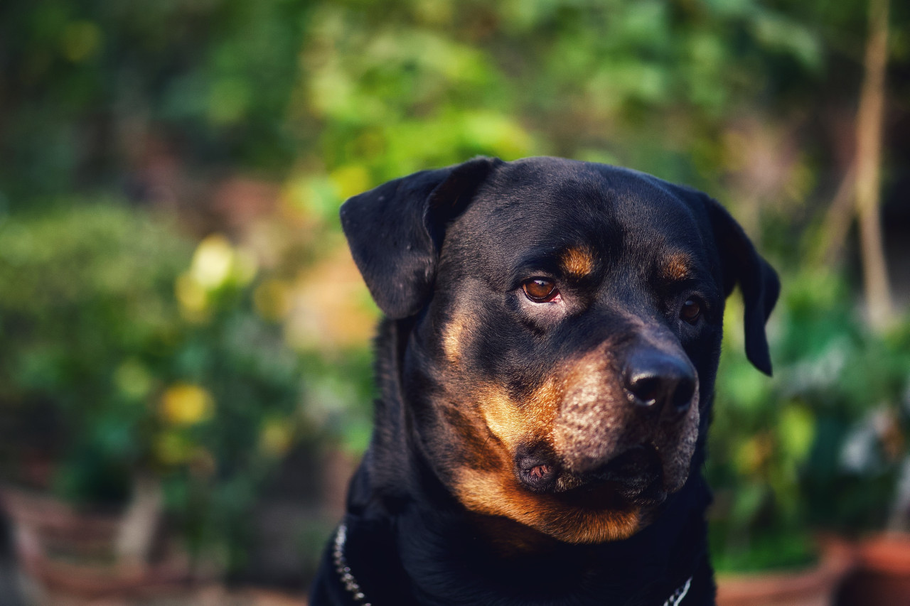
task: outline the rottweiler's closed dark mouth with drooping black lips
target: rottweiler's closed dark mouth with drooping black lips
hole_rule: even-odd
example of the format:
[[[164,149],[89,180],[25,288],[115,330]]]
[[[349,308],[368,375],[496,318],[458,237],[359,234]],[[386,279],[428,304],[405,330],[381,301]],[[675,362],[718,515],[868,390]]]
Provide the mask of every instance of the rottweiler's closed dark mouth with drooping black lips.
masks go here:
[[[544,454],[518,457],[516,472],[526,489],[584,509],[656,505],[667,497],[662,460],[652,444],[633,446],[584,473],[561,470],[555,457]]]

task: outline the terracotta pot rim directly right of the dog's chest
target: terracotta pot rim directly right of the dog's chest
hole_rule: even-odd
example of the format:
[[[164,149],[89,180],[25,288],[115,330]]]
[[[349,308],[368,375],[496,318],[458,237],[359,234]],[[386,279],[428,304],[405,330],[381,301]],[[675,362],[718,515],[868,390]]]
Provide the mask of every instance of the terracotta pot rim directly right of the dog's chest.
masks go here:
[[[718,606],[832,606],[834,596],[853,567],[853,550],[828,541],[822,559],[803,571],[718,575]],[[876,602],[865,602],[867,605]]]

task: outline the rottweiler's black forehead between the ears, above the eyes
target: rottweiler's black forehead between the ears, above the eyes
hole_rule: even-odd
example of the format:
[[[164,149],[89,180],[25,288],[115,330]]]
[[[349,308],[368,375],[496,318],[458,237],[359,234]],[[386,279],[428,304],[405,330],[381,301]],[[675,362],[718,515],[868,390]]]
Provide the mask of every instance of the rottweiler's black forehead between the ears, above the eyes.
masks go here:
[[[580,272],[629,256],[703,258],[698,209],[671,187],[620,168],[517,163],[480,188],[450,252],[503,269],[549,255]]]

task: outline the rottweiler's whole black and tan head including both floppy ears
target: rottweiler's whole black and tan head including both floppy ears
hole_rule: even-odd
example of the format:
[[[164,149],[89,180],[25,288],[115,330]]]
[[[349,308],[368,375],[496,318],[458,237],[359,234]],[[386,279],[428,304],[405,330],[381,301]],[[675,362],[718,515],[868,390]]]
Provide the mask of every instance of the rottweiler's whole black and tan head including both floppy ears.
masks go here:
[[[412,318],[417,449],[467,509],[557,540],[631,536],[689,477],[724,298],[770,373],[773,269],[722,207],[630,170],[478,158],[342,207],[373,297]]]

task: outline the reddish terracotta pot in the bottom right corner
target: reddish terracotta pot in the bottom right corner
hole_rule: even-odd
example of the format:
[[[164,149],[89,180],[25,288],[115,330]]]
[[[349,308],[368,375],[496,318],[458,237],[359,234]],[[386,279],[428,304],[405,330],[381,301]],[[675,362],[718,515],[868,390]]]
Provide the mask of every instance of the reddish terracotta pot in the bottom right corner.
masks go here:
[[[886,534],[859,543],[856,567],[844,581],[836,603],[910,605],[910,534]]]

